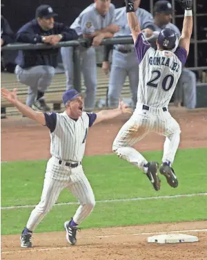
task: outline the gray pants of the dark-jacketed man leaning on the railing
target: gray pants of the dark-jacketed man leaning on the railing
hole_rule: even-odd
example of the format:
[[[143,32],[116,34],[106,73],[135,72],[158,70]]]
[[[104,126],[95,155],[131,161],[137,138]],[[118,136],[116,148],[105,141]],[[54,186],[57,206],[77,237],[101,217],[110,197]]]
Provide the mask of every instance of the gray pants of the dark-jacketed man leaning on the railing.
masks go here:
[[[30,68],[21,68],[19,65],[15,68],[18,82],[28,86],[28,97],[26,104],[32,106],[37,98],[37,91],[46,92],[55,75],[55,68],[52,66],[34,66]]]

